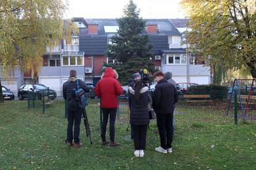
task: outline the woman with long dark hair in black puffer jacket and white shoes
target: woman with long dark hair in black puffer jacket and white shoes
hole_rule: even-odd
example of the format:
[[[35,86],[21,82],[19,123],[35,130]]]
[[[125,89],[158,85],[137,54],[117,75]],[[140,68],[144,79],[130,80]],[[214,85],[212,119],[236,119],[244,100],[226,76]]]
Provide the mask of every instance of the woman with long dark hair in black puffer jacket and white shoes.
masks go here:
[[[129,87],[131,95],[130,124],[134,128],[134,155],[143,157],[146,147],[148,116],[148,87],[142,87],[141,79],[135,81],[134,89]]]

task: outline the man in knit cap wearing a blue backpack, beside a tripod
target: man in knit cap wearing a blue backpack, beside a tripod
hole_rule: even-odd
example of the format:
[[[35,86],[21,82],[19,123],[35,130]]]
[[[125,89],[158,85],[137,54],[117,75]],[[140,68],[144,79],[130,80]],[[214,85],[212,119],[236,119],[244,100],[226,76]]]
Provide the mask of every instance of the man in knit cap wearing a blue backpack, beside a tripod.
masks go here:
[[[77,79],[77,71],[70,70],[69,79],[62,86],[62,95],[67,102],[67,139],[66,143],[69,147],[73,145],[76,148],[82,147],[79,139],[80,123],[82,118],[82,111],[80,101],[77,100],[77,95],[75,92],[78,90],[77,85],[84,92],[89,92],[90,89],[83,83],[82,80]],[[79,89],[79,90],[80,90]],[[85,94],[84,94],[85,95]],[[74,144],[73,144],[73,124],[74,124]]]

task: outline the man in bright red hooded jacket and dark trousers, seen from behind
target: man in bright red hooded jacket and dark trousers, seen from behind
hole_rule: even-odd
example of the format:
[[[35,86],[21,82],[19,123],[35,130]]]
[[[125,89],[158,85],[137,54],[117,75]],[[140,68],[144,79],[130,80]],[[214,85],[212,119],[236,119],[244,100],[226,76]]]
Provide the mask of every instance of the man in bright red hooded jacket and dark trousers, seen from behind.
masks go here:
[[[113,68],[105,69],[103,78],[98,81],[95,87],[95,95],[101,97],[101,108],[103,111],[103,123],[101,124],[101,140],[106,145],[106,125],[109,116],[109,138],[110,146],[116,147],[119,144],[114,142],[114,122],[116,121],[117,96],[123,92],[120,83],[117,81]]]

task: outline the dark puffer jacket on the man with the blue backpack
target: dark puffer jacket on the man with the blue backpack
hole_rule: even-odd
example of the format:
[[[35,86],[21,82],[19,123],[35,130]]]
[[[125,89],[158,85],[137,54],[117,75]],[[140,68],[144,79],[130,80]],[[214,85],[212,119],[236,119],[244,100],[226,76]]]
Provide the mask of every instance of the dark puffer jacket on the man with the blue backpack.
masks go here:
[[[82,80],[79,80],[79,86],[83,91],[89,92],[90,89],[83,83]],[[75,99],[75,91],[77,89],[77,78],[69,78],[62,86],[62,95],[65,100],[67,100],[67,108],[70,110],[76,110],[79,108],[78,102]]]

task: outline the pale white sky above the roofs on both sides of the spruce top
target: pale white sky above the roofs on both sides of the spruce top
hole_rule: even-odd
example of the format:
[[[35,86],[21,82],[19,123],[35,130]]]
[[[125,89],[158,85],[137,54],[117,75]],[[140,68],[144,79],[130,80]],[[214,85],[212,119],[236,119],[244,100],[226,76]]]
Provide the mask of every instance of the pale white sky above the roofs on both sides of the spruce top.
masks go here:
[[[63,0],[64,1],[64,0]],[[134,0],[142,18],[184,18],[181,0]],[[65,18],[120,18],[129,0],[69,0]]]

